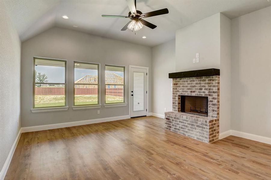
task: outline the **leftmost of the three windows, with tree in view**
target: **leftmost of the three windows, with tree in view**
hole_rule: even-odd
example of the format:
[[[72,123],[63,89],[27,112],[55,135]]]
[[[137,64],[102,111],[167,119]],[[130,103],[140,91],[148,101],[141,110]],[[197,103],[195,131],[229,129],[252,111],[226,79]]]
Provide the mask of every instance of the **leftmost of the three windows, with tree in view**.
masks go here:
[[[34,58],[33,108],[66,106],[66,61]]]

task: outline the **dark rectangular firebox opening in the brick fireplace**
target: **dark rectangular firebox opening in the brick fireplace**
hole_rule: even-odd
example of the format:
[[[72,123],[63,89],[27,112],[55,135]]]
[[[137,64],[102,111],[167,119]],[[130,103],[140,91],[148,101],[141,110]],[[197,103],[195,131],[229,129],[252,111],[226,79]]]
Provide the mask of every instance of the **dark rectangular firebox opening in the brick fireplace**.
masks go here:
[[[208,116],[208,97],[181,95],[181,112]]]

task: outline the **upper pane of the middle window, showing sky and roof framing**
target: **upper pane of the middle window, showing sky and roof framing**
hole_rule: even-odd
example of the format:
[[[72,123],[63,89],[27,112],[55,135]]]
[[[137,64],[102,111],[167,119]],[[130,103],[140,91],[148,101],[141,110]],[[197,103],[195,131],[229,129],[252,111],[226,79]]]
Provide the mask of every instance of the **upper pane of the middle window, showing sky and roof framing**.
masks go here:
[[[98,64],[74,63],[75,83],[98,84]]]

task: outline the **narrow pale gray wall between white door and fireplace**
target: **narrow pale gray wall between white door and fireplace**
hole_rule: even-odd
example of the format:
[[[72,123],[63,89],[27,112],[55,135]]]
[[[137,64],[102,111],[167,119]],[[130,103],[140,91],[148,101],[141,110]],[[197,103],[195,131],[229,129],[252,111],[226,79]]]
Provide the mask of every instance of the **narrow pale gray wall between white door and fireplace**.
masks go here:
[[[152,113],[172,111],[172,79],[175,72],[175,39],[152,48]]]

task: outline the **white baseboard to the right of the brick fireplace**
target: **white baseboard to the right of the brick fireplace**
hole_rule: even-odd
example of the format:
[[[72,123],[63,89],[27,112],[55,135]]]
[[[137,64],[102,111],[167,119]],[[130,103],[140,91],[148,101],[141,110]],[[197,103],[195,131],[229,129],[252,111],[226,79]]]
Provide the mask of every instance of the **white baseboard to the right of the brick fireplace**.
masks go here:
[[[244,133],[244,132],[235,131],[235,130],[229,130],[229,131],[225,131],[223,133],[220,133],[219,134],[219,139],[221,140],[221,139],[223,139],[223,138],[225,138],[227,136],[230,136],[230,135],[237,136],[237,137],[242,137],[242,138],[245,138],[245,139],[248,139],[248,140],[258,141],[258,142],[261,142],[261,143],[271,144],[271,138],[269,138],[269,137],[258,136],[258,135],[255,135],[255,134],[249,134],[249,133]]]

